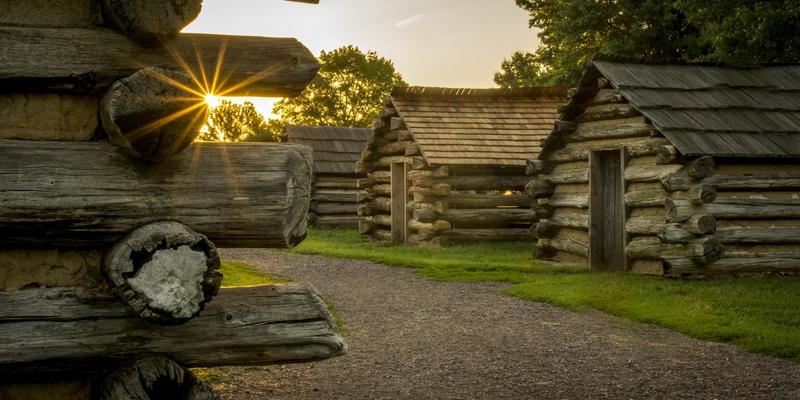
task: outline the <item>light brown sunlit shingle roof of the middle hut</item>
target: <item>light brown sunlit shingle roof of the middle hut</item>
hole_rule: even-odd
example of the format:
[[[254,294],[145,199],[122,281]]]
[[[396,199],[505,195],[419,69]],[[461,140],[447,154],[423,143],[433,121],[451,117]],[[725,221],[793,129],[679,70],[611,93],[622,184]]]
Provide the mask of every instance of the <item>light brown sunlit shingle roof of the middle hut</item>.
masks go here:
[[[523,166],[553,129],[566,88],[396,88],[391,102],[430,165]]]

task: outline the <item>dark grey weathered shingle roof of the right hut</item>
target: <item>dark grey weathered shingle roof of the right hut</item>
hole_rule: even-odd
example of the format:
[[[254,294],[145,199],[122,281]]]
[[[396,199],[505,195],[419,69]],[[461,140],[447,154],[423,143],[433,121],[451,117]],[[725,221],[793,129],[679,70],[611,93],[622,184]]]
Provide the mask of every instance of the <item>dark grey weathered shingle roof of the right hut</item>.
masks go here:
[[[800,66],[593,65],[684,155],[800,156]]]

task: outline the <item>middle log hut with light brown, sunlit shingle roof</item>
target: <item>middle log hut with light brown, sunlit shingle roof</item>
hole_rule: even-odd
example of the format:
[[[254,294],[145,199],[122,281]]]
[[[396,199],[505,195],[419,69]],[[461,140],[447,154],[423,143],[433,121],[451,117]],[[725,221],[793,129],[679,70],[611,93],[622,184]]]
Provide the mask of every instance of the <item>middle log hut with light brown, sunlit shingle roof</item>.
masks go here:
[[[560,87],[396,88],[358,165],[361,233],[424,245],[528,240],[526,159],[565,98]]]

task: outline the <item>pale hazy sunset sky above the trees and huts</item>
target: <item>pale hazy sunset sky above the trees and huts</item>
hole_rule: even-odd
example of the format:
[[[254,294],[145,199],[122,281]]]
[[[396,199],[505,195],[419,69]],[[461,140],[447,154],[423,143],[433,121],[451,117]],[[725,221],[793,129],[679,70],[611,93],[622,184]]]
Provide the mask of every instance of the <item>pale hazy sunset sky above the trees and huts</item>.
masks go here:
[[[411,85],[469,88],[493,87],[503,58],[538,45],[514,0],[204,0],[184,32],[295,37],[316,55],[353,44]],[[247,100],[265,115],[275,101]]]

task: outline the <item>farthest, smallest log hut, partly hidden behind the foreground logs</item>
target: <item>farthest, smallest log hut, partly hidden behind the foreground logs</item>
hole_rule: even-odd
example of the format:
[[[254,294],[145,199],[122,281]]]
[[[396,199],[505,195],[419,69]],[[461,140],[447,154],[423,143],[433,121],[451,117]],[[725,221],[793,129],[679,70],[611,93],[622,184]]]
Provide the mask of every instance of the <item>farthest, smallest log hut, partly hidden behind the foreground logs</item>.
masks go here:
[[[314,180],[308,220],[322,227],[358,227],[356,162],[370,129],[330,126],[286,126],[289,143],[314,149]]]

